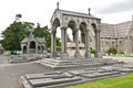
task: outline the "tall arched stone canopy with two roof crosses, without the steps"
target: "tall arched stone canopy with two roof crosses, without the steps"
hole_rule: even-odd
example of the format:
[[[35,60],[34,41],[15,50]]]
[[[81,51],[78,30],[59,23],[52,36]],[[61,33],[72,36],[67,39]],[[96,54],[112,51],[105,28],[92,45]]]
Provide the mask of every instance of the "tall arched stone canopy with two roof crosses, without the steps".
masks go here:
[[[65,11],[59,9],[59,2],[57,4],[57,9],[51,18],[51,56],[57,56],[57,43],[55,43],[55,34],[57,29],[61,29],[61,58],[68,58],[66,53],[66,29],[70,28],[72,30],[73,41],[75,43],[75,53],[74,57],[80,58],[79,52],[79,31],[81,31],[81,42],[85,45],[85,58],[90,58],[90,48],[89,48],[89,32],[93,30],[95,33],[95,57],[101,58],[101,45],[100,45],[100,32],[101,32],[101,19],[95,18],[90,12],[80,13],[73,11]]]

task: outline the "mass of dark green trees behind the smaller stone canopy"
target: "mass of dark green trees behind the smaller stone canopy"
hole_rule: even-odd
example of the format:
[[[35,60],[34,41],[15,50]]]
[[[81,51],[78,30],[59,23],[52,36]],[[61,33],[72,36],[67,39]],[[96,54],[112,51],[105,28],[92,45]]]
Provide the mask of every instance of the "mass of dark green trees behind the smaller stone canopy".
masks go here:
[[[33,31],[34,37],[45,37],[47,41],[47,50],[50,52],[51,50],[51,33],[48,26],[41,28],[38,23],[37,28],[33,30],[34,23],[31,22],[20,22],[22,18],[21,14],[16,15],[16,21],[10,24],[3,32],[1,40],[1,45],[6,51],[11,51],[17,53],[17,51],[21,51],[21,41],[29,36],[30,32]],[[60,38],[57,37],[57,50],[61,50]]]

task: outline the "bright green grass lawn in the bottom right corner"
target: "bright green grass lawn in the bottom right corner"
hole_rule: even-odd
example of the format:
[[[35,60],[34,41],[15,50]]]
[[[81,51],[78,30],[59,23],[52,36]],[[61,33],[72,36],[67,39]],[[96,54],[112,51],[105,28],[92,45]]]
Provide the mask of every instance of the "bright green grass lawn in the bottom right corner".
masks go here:
[[[133,88],[133,74],[88,81],[65,88]]]

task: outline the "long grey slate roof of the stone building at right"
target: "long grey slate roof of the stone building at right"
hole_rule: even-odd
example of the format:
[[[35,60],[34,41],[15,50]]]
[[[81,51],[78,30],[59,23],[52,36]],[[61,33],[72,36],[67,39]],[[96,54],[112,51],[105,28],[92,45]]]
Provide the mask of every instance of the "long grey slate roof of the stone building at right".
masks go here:
[[[132,21],[126,21],[117,24],[101,24],[101,37],[125,37],[130,31]]]

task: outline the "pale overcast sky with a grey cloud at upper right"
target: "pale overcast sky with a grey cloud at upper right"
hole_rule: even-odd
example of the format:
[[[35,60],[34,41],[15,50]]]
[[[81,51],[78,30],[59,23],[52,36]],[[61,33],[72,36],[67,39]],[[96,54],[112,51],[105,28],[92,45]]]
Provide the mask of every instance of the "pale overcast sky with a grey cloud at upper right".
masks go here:
[[[22,14],[22,21],[50,25],[51,15],[60,2],[60,9],[91,13],[103,23],[120,23],[132,19],[133,0],[1,0],[0,33],[11,24],[16,14]]]

